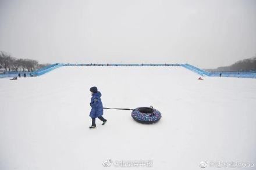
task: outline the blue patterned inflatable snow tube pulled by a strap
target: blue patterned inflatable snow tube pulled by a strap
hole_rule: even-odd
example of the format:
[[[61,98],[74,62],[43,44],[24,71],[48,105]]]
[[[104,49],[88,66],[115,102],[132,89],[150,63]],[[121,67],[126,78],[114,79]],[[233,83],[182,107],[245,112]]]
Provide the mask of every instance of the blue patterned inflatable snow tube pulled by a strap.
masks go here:
[[[138,107],[131,112],[131,117],[142,124],[154,124],[161,119],[162,115],[153,107]]]

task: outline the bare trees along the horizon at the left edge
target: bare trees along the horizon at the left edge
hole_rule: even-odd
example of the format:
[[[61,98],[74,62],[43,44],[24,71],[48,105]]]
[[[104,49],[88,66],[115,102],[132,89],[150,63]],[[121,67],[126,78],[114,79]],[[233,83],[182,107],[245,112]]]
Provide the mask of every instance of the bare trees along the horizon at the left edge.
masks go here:
[[[49,64],[40,64],[37,60],[17,59],[9,53],[0,52],[0,71],[35,71]]]

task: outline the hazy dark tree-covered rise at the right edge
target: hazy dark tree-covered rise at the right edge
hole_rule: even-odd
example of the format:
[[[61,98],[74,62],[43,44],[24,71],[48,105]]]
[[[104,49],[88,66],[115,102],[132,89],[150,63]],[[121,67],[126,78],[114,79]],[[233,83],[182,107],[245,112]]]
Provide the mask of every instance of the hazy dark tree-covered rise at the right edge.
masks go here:
[[[240,60],[230,66],[205,69],[206,71],[256,71],[256,55],[250,59]]]

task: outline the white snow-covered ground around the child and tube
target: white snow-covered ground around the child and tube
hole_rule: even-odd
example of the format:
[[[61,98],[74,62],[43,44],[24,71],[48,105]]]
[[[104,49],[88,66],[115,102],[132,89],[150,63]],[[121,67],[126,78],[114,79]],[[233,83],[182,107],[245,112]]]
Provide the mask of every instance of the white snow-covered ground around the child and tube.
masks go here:
[[[123,169],[103,167],[108,159],[153,162],[125,169],[255,162],[256,79],[198,77],[182,67],[61,67],[0,79],[0,169]],[[130,111],[104,110],[106,125],[88,129],[91,86],[104,107],[152,105],[162,119],[143,125]]]

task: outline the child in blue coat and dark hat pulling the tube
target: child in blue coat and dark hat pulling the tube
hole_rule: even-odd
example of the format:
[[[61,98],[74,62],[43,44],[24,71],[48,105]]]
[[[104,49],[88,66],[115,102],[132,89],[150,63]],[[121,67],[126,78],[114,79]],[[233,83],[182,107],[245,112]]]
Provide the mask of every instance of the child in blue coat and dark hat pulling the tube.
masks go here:
[[[98,89],[95,86],[91,87],[90,91],[93,97],[91,97],[91,103],[90,103],[90,106],[91,106],[90,117],[91,117],[92,124],[89,128],[93,129],[93,128],[96,128],[96,124],[95,124],[96,118],[99,118],[99,120],[103,122],[102,125],[106,123],[106,119],[102,117],[103,106],[101,102],[101,92],[98,92]]]

